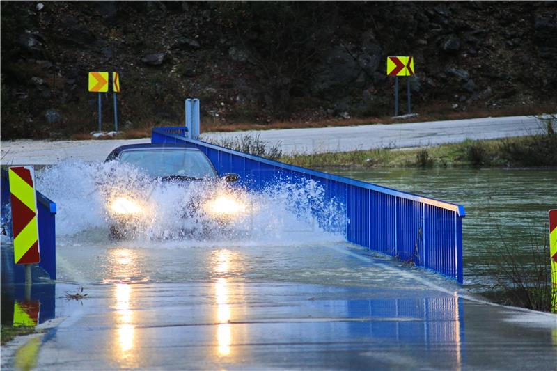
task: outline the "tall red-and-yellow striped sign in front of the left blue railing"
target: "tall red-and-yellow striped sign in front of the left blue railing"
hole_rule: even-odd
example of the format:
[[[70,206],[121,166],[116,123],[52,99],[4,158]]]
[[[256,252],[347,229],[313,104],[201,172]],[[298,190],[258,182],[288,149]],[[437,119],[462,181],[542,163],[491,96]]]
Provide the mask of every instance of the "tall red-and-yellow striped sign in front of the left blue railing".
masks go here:
[[[36,264],[40,262],[40,249],[33,166],[10,167],[8,179],[15,264]]]

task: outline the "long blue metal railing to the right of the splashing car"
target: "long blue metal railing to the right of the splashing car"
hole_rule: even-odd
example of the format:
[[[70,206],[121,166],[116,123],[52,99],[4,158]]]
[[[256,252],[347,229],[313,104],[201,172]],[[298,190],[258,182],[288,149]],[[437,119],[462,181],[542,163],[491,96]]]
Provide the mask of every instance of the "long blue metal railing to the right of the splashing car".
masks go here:
[[[195,145],[220,174],[237,173],[249,189],[262,189],[277,177],[315,180],[324,187],[326,200],[345,205],[349,242],[411,261],[462,283],[463,206],[246,155],[187,139],[172,129],[153,129],[151,142]]]

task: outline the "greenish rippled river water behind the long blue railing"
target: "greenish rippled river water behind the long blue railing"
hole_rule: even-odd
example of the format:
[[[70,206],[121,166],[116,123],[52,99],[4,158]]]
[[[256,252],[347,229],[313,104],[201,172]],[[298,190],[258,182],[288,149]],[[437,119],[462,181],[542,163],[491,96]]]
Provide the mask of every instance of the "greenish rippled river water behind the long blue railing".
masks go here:
[[[478,290],[492,285],[489,269],[505,250],[505,244],[516,246],[521,252],[518,260],[531,260],[533,242],[539,250],[549,236],[547,211],[557,208],[555,169],[320,170],[464,205],[464,283]]]

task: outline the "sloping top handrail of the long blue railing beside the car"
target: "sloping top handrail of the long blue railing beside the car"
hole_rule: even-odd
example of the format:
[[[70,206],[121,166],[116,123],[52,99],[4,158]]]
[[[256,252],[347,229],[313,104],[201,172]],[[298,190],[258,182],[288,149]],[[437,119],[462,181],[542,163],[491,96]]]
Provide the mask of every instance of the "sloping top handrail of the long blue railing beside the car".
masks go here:
[[[408,192],[398,191],[396,189],[391,189],[389,187],[383,187],[383,186],[373,184],[373,183],[363,182],[361,180],[355,180],[355,179],[350,179],[350,178],[347,178],[347,177],[341,177],[340,175],[322,173],[321,171],[311,170],[311,169],[308,169],[308,168],[301,168],[301,167],[295,166],[295,165],[284,164],[283,162],[280,162],[280,161],[265,159],[263,157],[259,157],[259,156],[256,156],[256,155],[248,155],[244,152],[231,150],[230,148],[221,147],[220,145],[215,145],[215,144],[212,144],[212,143],[198,141],[198,140],[195,140],[195,139],[187,139],[185,136],[180,136],[178,134],[165,132],[164,129],[165,128],[162,128],[162,127],[153,127],[152,131],[153,132],[158,132],[159,134],[164,134],[166,136],[170,136],[171,138],[180,139],[180,141],[189,141],[191,143],[202,143],[203,145],[207,146],[208,148],[221,150],[223,152],[227,152],[227,153],[234,154],[234,155],[241,155],[242,157],[246,157],[248,159],[253,159],[253,160],[256,160],[256,161],[260,161],[264,164],[284,168],[285,170],[297,171],[299,173],[306,173],[306,174],[309,174],[309,175],[315,175],[317,177],[322,177],[322,178],[327,179],[327,180],[336,180],[337,182],[343,182],[343,183],[354,185],[356,187],[362,187],[362,188],[365,188],[365,189],[370,189],[372,191],[382,192],[384,194],[389,194],[391,196],[405,198],[405,199],[408,199],[408,200],[418,201],[418,202],[421,202],[421,203],[425,203],[426,205],[433,205],[433,206],[437,206],[437,207],[442,207],[444,209],[451,210],[453,212],[457,212],[457,214],[461,218],[464,218],[464,216],[466,216],[466,213],[464,212],[464,206],[462,206],[462,205],[457,205],[455,203],[448,203],[446,201],[436,200],[434,198],[418,196],[416,194],[410,194]]]

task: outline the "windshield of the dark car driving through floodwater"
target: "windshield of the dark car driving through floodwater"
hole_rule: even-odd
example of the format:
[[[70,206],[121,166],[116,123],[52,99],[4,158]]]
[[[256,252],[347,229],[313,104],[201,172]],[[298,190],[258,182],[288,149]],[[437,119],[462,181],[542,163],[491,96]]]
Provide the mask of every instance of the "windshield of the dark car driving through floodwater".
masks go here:
[[[143,168],[152,177],[217,177],[209,159],[198,150],[128,150],[120,154],[120,162]]]

